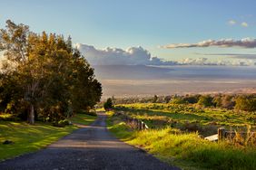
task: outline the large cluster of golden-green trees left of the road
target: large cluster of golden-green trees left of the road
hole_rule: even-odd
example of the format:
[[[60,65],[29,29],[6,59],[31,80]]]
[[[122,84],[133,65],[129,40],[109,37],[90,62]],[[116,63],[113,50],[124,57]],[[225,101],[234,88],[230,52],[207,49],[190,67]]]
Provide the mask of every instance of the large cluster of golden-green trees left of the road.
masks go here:
[[[8,20],[0,30],[0,47],[7,59],[0,75],[3,111],[31,124],[34,118],[58,124],[100,101],[94,69],[73,49],[70,37],[32,33],[27,25]]]

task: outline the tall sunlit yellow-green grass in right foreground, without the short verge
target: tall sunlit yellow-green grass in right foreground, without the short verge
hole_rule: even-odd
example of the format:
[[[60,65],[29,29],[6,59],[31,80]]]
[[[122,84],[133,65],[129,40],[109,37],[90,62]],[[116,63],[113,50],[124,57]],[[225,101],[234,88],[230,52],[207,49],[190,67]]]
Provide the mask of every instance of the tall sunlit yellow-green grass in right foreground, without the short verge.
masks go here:
[[[150,153],[168,158],[174,156],[213,169],[253,169],[256,148],[236,147],[228,143],[206,141],[196,133],[173,133],[172,128],[136,132],[130,144],[143,146]]]

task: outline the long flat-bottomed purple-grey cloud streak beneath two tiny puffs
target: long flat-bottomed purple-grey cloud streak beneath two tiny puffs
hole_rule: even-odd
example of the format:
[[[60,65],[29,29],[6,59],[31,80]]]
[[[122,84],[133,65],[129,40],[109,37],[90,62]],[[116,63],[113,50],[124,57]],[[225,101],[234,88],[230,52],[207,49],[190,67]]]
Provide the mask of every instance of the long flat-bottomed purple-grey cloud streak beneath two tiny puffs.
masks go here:
[[[197,43],[172,43],[164,45],[162,48],[175,49],[175,48],[192,48],[192,47],[241,47],[241,48],[256,48],[255,38],[243,38],[241,40],[222,39],[222,40],[206,40]]]

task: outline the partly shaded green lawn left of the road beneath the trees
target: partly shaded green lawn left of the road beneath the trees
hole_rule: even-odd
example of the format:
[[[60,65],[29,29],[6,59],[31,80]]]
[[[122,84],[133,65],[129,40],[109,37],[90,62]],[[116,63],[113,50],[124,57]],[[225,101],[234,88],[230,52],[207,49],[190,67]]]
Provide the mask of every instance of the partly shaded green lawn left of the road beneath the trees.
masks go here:
[[[88,125],[94,122],[95,118],[77,114],[70,120],[73,123]],[[25,122],[0,121],[0,161],[44,148],[77,128],[74,125],[53,127],[51,124],[42,122],[29,125]],[[2,143],[5,140],[11,140],[14,143],[4,145]]]

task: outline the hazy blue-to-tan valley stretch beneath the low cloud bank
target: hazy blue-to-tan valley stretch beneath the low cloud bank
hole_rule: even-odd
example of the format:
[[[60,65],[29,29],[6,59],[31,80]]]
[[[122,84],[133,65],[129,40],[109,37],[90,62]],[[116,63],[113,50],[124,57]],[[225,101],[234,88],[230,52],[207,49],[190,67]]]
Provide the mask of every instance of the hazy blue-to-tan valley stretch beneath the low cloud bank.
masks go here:
[[[190,93],[252,93],[256,68],[247,66],[93,66],[103,98]]]

